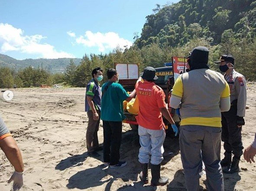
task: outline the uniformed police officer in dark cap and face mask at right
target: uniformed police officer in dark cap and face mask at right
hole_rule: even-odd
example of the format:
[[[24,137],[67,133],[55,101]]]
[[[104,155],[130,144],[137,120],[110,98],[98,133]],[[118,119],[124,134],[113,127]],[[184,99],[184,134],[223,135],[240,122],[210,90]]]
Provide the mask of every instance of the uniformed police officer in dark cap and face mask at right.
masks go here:
[[[224,78],[230,88],[230,110],[222,113],[222,135],[224,142],[224,159],[220,164],[224,173],[233,174],[240,172],[239,161],[243,154],[242,126],[245,124],[243,117],[246,109],[246,79],[234,70],[232,55],[222,55],[215,63],[220,64],[220,71],[224,72]],[[233,153],[233,159],[232,159]],[[232,161],[232,162],[231,162]],[[231,166],[230,166],[231,165]]]

